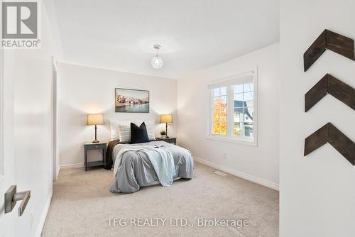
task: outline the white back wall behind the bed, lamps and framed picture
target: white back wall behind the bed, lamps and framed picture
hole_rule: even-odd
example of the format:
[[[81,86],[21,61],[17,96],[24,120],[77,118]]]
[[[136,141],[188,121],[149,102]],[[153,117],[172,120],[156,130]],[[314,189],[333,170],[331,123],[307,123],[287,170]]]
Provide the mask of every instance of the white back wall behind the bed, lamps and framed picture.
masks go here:
[[[176,114],[175,79],[137,75],[81,65],[60,63],[59,78],[59,130],[60,165],[82,164],[83,143],[94,140],[94,126],[87,126],[87,114],[103,113],[105,125],[98,126],[98,140],[109,140],[109,118],[155,119],[155,136],[165,130],[159,124],[159,114]],[[145,89],[150,92],[150,112],[115,113],[115,87]],[[168,133],[175,136],[176,123],[170,124]]]

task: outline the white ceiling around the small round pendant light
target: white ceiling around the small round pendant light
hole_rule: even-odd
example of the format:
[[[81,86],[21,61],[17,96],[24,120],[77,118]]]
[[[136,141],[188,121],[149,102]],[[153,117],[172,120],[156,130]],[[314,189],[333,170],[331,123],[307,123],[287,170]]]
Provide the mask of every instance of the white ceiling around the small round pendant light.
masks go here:
[[[279,40],[278,0],[60,0],[53,9],[63,62],[144,75],[178,79]]]

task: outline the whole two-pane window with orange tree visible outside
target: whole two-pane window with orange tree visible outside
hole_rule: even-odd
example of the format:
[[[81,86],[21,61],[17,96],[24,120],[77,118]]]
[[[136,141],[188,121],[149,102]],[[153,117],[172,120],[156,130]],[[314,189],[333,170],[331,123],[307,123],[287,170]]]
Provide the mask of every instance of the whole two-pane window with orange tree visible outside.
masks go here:
[[[209,84],[208,138],[256,145],[256,70]]]

